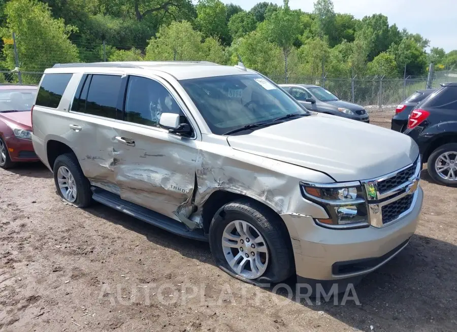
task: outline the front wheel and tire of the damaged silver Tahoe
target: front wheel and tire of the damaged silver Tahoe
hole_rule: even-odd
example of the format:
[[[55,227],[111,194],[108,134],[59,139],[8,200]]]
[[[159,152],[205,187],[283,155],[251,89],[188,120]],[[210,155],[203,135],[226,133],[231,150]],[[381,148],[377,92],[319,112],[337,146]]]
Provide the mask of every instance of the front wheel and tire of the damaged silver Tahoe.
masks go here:
[[[249,238],[252,239],[250,241],[244,240],[244,243],[241,244],[241,242],[243,242],[242,238],[245,236],[243,235],[238,241],[230,241],[230,243],[237,248],[223,246],[222,241],[223,238],[225,238],[223,235],[227,234],[225,231],[232,227],[234,223],[236,224],[238,222],[244,222],[253,226],[253,228],[250,226],[248,227],[248,234],[251,235]],[[262,237],[262,240],[265,240],[264,243],[253,241],[253,238],[259,239],[259,237],[256,236],[256,233]],[[238,232],[238,229],[233,229],[232,234],[235,234],[232,235],[233,237],[237,237],[241,233]],[[227,241],[227,238],[225,238],[225,241]],[[252,249],[247,242],[250,242],[251,246],[255,243],[255,245],[257,245],[255,250],[258,251],[255,253],[251,251]],[[217,266],[229,275],[247,283],[254,285],[279,283],[295,272],[292,244],[285,224],[276,213],[255,201],[241,199],[221,207],[211,221],[209,243],[211,253]],[[240,248],[242,245],[245,246],[243,247],[243,252],[238,249],[238,245]],[[265,252],[267,252],[268,255],[266,255]],[[228,260],[231,260],[238,254],[241,254],[241,258],[239,259],[243,259],[242,262],[245,260],[248,261],[245,265],[247,268],[245,269],[250,269],[251,273],[249,273],[249,271],[238,273],[235,271],[235,268],[228,263]],[[249,258],[245,256],[246,254],[249,255]],[[253,256],[252,258],[251,255]],[[244,257],[246,257],[246,259]],[[254,261],[257,261],[257,263],[260,262],[260,265],[262,265],[262,263],[264,264],[265,269],[258,269],[259,271],[263,270],[262,273],[252,271],[252,264],[256,264]],[[242,264],[243,263],[239,265]]]

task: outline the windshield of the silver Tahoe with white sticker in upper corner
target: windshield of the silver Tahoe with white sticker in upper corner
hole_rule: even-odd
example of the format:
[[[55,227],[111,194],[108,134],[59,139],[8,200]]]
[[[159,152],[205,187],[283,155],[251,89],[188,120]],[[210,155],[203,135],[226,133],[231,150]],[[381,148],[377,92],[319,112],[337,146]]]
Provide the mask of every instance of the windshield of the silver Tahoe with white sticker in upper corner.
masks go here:
[[[206,77],[180,83],[216,135],[287,114],[308,113],[282,89],[258,74]]]

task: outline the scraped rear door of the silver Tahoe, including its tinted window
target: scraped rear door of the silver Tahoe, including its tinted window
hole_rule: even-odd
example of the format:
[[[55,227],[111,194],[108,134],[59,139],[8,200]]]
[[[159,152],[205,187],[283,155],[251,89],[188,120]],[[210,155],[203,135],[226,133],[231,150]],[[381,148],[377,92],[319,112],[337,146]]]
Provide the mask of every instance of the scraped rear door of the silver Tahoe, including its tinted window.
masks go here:
[[[116,120],[122,116],[126,76],[85,74],[71,106],[74,151],[91,184],[118,193],[114,167]]]

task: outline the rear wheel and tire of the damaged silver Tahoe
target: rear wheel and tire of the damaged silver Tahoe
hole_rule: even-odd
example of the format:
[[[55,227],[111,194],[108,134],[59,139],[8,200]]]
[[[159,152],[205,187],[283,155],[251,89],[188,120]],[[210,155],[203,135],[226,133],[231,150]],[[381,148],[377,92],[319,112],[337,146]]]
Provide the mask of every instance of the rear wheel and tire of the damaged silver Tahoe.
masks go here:
[[[69,171],[69,175],[67,171]],[[86,208],[92,201],[92,192],[90,190],[89,180],[84,176],[76,156],[73,153],[59,155],[54,162],[54,183],[60,199],[77,208]],[[64,176],[67,174],[67,178]],[[63,188],[59,187],[59,182],[66,185]],[[69,185],[72,193],[65,195],[62,191],[69,192]],[[73,190],[76,188],[76,192]],[[74,194],[73,194],[74,193]]]

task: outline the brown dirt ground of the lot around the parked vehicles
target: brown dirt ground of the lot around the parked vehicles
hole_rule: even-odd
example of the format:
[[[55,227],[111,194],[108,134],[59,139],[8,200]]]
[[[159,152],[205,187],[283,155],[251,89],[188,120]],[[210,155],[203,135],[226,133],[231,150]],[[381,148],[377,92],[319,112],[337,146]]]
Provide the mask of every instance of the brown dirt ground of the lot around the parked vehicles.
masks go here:
[[[371,120],[388,127],[391,115]],[[0,330],[455,331],[457,188],[426,171],[421,186],[408,247],[355,287],[360,305],[334,305],[233,279],[206,243],[99,204],[63,205],[42,164],[0,170]]]

